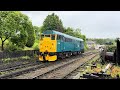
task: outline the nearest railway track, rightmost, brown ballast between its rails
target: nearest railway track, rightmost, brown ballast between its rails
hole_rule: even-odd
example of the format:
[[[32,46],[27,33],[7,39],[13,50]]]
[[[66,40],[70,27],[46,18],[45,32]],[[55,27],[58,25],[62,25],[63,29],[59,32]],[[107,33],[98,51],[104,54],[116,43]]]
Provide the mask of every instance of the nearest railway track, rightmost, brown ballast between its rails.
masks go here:
[[[95,57],[96,55],[92,55],[92,58]],[[91,55],[88,56],[90,59]],[[84,59],[85,60],[85,59]],[[78,66],[80,65],[81,60],[77,59],[77,60],[73,60],[69,63],[65,63],[63,65],[57,66],[51,70],[48,70],[47,72],[40,74],[36,77],[33,77],[32,79],[63,79],[64,77],[66,77],[69,73],[71,73],[72,71],[74,71],[75,69],[78,68]]]

